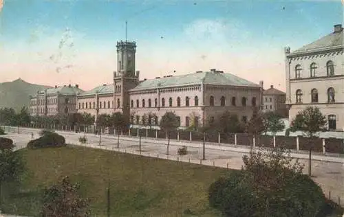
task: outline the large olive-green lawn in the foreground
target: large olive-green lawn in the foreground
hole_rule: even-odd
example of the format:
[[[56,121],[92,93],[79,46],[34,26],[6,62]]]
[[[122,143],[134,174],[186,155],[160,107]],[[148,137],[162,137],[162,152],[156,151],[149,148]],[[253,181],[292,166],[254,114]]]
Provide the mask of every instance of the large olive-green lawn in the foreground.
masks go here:
[[[208,186],[230,170],[119,152],[67,146],[20,150],[27,172],[20,188],[3,198],[3,212],[37,216],[39,197],[61,175],[80,183],[91,199],[92,216],[106,216],[110,186],[111,216],[219,216],[208,207]],[[13,188],[12,188],[13,189]]]

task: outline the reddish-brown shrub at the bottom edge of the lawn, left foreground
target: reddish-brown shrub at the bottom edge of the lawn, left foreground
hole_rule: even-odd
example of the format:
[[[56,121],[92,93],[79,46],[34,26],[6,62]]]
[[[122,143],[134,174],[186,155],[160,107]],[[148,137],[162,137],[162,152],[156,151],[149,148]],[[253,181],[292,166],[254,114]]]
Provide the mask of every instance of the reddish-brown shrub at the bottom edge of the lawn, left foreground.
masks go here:
[[[78,195],[78,184],[72,185],[67,176],[57,185],[45,189],[41,216],[85,217],[90,216],[89,201]]]

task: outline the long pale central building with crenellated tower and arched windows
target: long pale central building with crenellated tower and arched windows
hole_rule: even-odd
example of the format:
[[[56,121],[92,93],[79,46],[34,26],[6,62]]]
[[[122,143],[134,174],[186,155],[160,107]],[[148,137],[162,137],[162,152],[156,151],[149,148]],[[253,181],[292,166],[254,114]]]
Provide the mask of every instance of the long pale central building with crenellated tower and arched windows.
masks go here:
[[[262,83],[255,84],[216,69],[183,76],[164,76],[141,80],[135,70],[136,43],[117,43],[118,72],[113,84],[104,84],[78,95],[78,112],[120,111],[131,117],[132,124],[146,124],[147,117],[158,124],[166,111],[180,117],[182,127],[202,125],[224,111],[236,113],[246,122],[261,106]],[[153,115],[153,116],[152,116]]]

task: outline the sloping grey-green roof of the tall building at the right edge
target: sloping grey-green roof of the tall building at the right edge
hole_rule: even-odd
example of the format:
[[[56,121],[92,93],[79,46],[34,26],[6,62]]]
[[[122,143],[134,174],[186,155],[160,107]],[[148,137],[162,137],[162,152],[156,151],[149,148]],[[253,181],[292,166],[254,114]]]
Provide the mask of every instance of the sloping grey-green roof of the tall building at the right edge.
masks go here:
[[[332,49],[332,48],[343,48],[343,29],[338,32],[332,32],[323,36],[322,38],[295,50],[291,54],[299,54],[303,52],[312,52],[316,50]]]

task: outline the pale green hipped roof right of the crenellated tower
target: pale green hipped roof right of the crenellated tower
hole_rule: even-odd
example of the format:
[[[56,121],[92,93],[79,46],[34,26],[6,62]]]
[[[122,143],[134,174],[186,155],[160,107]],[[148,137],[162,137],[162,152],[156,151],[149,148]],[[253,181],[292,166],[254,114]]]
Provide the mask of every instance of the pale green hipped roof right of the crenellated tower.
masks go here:
[[[244,87],[260,87],[244,78],[239,78],[230,73],[222,73],[219,71],[202,71],[197,73],[189,73],[183,76],[173,76],[165,78],[155,78],[144,80],[131,91],[139,91],[144,89],[155,89],[157,87],[180,87],[194,84],[227,85],[227,86],[244,86]]]

